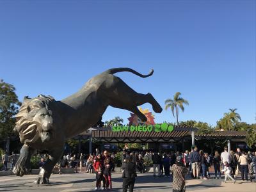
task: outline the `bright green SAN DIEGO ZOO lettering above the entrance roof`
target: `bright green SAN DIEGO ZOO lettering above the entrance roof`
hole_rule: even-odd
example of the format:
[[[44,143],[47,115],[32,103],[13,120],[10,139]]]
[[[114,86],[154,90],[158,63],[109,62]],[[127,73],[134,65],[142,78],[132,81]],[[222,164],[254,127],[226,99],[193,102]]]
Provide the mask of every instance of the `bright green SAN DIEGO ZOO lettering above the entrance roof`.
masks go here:
[[[113,126],[112,131],[141,131],[141,132],[172,132],[173,131],[173,125],[168,125],[167,123],[163,124],[155,124],[155,125],[138,125],[138,126]]]

